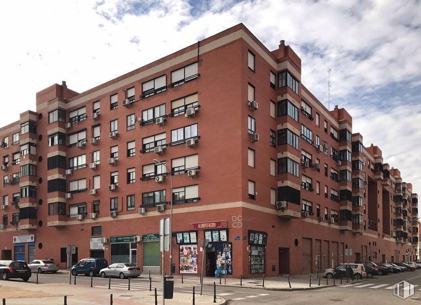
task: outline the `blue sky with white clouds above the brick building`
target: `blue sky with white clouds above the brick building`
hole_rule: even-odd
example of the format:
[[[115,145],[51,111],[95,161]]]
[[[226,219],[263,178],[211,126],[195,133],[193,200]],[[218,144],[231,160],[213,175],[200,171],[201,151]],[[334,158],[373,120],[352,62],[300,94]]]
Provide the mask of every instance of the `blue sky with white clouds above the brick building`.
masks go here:
[[[243,23],[269,49],[284,39],[303,84],[345,107],[364,145],[421,193],[419,1],[10,1],[0,5],[1,126],[66,80],[83,92]]]

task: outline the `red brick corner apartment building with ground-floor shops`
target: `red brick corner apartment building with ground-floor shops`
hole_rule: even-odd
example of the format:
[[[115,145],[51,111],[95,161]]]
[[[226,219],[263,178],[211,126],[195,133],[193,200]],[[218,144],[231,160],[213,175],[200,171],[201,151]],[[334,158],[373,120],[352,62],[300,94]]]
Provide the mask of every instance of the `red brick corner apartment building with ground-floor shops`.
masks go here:
[[[170,196],[176,274],[200,273],[204,237],[206,276],[418,255],[412,185],[303,86],[283,40],[269,51],[242,24],[83,93],[46,88],[0,140],[1,259],[65,268],[74,245],[72,262],[159,272]]]

